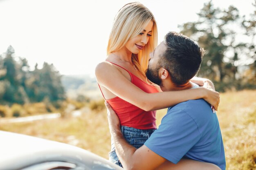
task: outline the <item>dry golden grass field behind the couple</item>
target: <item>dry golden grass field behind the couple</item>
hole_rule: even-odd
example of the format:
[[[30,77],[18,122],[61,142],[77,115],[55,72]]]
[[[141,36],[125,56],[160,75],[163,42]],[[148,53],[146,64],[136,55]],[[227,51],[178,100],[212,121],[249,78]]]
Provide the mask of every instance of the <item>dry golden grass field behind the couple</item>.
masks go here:
[[[227,170],[256,170],[256,91],[221,94],[218,119],[225,145]],[[166,109],[157,111],[159,125]],[[2,124],[0,130],[72,144],[108,158],[110,133],[106,110],[79,118]]]

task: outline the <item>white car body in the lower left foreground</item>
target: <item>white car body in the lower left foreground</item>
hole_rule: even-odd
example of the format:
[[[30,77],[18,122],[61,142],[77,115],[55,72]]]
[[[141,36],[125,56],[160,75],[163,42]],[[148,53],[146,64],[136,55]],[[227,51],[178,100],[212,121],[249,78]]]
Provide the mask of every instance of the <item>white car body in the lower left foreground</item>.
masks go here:
[[[0,130],[0,170],[124,169],[76,146]]]

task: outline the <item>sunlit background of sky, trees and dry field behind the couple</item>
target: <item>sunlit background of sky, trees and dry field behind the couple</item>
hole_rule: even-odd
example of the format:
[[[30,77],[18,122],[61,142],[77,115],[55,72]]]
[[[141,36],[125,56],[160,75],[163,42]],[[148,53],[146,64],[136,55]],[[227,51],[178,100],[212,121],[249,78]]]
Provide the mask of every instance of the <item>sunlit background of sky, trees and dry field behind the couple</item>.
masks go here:
[[[94,68],[105,60],[113,19],[128,2],[0,0],[0,130],[108,159],[110,133]],[[155,15],[158,42],[176,31],[206,50],[198,76],[220,92],[227,170],[255,170],[256,0],[140,2]],[[157,111],[157,126],[165,113]]]

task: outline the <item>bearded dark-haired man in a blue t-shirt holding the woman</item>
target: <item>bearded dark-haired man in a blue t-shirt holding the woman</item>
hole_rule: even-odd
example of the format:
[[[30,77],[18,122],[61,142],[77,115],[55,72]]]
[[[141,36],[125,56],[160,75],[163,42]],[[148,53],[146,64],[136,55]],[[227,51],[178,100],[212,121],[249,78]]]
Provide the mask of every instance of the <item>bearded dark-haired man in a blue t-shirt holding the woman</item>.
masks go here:
[[[203,52],[188,37],[169,32],[165,41],[150,54],[146,75],[162,91],[196,88],[197,85],[190,82],[190,79],[200,68]],[[205,165],[209,169],[225,170],[225,153],[218,119],[203,99],[189,100],[168,108],[159,128],[139,149],[126,142],[117,115],[107,102],[106,106],[110,133],[125,169],[191,169],[190,163],[201,161],[207,162]],[[209,163],[215,165],[209,166]]]

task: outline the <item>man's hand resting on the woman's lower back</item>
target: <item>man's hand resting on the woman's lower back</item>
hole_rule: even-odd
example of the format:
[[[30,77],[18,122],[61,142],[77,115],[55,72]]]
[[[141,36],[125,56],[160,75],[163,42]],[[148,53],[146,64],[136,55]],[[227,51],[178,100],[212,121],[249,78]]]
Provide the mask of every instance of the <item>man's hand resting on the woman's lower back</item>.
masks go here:
[[[119,121],[117,114],[110,106],[110,104],[108,104],[108,102],[105,101],[105,105],[106,105],[107,113],[108,113],[109,130],[112,135],[113,133],[120,131],[120,121]]]

